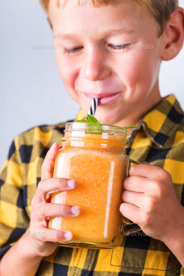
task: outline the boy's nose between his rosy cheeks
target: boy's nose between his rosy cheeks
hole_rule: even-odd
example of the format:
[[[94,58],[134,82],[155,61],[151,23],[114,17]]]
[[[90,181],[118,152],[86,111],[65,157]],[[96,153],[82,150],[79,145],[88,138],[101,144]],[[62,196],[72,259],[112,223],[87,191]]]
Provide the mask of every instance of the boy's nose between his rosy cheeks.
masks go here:
[[[111,69],[104,63],[104,54],[100,50],[86,51],[82,65],[82,76],[87,80],[100,80],[111,74]]]

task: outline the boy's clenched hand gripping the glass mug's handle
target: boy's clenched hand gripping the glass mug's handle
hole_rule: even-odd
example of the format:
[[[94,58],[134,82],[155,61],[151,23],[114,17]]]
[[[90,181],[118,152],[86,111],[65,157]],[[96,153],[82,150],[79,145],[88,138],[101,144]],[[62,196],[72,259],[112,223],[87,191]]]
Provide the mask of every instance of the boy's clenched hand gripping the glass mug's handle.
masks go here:
[[[152,232],[150,236],[168,244],[176,237],[176,230],[183,232],[184,209],[166,170],[146,162],[133,165],[123,189],[120,212],[146,235]]]

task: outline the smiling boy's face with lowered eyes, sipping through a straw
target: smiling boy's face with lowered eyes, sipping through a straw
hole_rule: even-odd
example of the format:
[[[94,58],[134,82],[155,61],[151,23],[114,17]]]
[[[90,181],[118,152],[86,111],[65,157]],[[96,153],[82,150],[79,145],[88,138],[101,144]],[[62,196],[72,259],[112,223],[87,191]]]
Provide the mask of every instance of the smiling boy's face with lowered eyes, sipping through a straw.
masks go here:
[[[95,117],[115,124],[156,85],[162,36],[154,17],[137,4],[97,8],[85,0],[79,6],[74,2],[64,1],[59,9],[56,0],[49,5],[61,78],[86,113],[92,97],[100,98]]]

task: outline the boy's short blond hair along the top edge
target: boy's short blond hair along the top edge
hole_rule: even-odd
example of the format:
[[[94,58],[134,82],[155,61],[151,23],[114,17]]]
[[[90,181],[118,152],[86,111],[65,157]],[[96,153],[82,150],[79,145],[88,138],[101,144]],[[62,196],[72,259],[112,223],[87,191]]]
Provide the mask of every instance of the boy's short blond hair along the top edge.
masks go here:
[[[80,0],[78,0],[79,3]],[[159,36],[162,35],[166,21],[170,18],[171,13],[178,7],[178,0],[91,0],[94,7],[97,5],[114,5],[122,2],[138,3],[144,7],[147,7],[151,14],[155,17],[158,28]],[[49,0],[40,0],[40,3],[44,11],[48,14]],[[56,0],[57,7],[60,6],[60,0]],[[50,19],[48,17],[48,21]]]

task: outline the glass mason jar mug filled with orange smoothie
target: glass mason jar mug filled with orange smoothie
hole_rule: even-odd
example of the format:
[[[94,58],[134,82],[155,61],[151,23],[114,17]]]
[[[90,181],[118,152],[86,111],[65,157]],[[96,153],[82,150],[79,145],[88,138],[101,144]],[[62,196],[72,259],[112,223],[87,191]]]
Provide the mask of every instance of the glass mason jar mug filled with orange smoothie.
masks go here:
[[[69,242],[60,246],[108,249],[120,246],[123,235],[141,228],[122,216],[123,181],[130,164],[141,164],[125,152],[127,130],[94,123],[66,123],[63,148],[55,159],[53,177],[75,179],[72,191],[51,194],[51,203],[77,205],[81,214],[75,218],[51,217],[49,229],[70,230]]]

